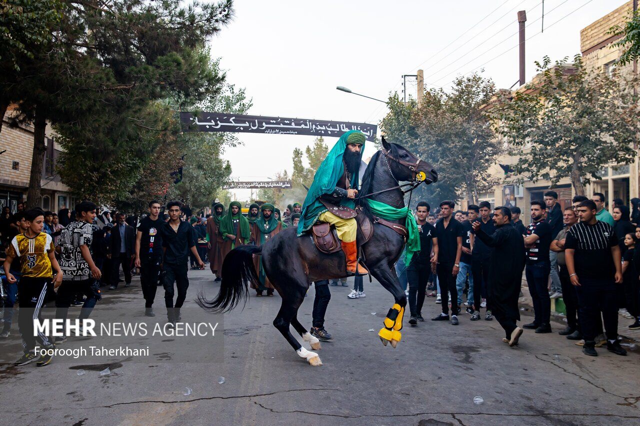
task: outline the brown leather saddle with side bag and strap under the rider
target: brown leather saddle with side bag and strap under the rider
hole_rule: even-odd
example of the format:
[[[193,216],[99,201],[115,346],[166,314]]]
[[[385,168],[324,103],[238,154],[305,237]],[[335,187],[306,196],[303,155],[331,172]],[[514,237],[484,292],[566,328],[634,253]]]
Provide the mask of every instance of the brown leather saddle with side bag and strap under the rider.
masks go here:
[[[404,226],[398,225],[397,223],[391,223],[381,217],[374,217],[374,221],[372,222],[371,219],[364,214],[364,211],[360,206],[355,208],[355,212],[356,223],[358,224],[358,230],[356,232],[356,244],[358,245],[358,248],[364,246],[364,244],[369,242],[371,239],[373,235],[373,223],[380,223],[380,225],[385,225],[388,228],[391,228],[402,235],[405,240],[409,235]],[[332,226],[329,223],[317,222],[316,225],[312,227],[311,235],[317,249],[323,253],[332,254],[342,250],[342,244],[340,244],[340,239],[338,238],[335,226]]]

